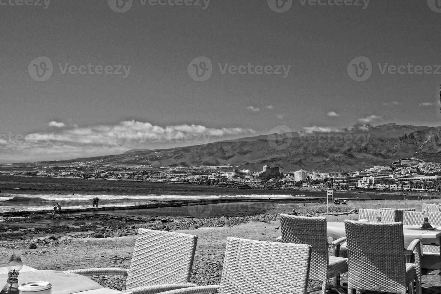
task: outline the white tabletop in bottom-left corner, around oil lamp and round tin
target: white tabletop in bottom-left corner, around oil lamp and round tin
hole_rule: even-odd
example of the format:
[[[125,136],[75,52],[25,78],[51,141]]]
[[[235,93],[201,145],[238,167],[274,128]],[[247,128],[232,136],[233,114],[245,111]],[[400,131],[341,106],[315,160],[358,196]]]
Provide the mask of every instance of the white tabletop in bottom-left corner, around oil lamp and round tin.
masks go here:
[[[7,268],[0,268],[0,287],[7,280]],[[102,287],[84,275],[64,273],[60,271],[38,271],[23,266],[19,274],[19,285],[31,281],[48,281],[52,284],[52,293],[56,294],[115,294],[119,291]]]

